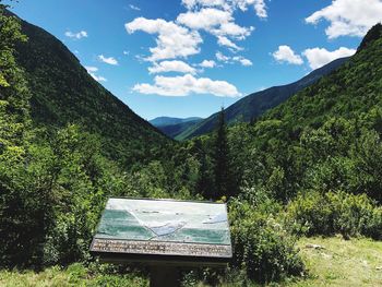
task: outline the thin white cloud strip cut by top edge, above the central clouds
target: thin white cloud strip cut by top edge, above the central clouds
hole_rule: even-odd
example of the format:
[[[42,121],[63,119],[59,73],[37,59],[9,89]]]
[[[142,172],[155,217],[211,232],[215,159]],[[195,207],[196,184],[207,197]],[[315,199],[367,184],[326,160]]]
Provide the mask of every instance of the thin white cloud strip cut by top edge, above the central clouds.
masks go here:
[[[198,7],[215,7],[227,11],[240,9],[247,11],[252,7],[259,17],[266,17],[265,0],[182,0],[187,9],[192,10]]]

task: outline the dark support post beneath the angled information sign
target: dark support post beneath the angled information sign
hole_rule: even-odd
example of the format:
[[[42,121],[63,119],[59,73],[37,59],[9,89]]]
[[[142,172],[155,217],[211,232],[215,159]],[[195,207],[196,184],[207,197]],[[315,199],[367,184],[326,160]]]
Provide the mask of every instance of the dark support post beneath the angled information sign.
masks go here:
[[[175,266],[152,266],[150,287],[180,287],[180,273]]]

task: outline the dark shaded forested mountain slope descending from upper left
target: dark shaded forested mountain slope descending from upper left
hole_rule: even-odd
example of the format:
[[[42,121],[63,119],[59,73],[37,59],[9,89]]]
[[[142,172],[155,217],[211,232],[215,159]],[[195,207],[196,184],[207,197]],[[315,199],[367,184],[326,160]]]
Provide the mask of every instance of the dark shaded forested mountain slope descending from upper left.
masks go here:
[[[96,82],[55,36],[25,21],[22,32],[28,40],[16,47],[16,60],[26,71],[37,127],[81,124],[98,134],[105,154],[123,165],[145,160],[169,142]]]

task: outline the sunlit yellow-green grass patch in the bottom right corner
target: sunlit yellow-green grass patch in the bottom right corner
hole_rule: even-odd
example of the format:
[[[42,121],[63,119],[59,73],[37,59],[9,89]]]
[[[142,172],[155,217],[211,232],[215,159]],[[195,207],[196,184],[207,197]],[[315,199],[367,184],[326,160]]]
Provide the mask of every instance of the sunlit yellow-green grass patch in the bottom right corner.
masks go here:
[[[309,243],[323,249],[307,248]],[[382,286],[382,242],[303,238],[298,246],[309,276],[285,286]]]

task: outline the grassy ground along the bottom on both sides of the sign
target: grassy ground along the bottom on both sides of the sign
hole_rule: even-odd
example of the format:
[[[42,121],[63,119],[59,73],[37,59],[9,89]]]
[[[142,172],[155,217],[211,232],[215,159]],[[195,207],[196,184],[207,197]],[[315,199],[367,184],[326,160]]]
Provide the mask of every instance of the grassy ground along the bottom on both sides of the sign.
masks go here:
[[[317,244],[322,249],[307,248],[307,244]],[[298,242],[298,246],[309,276],[272,286],[382,286],[382,242],[368,239],[345,241],[341,238],[303,238]],[[140,276],[132,274],[126,276],[99,275],[99,273],[92,273],[80,264],[73,264],[67,270],[51,267],[40,273],[0,272],[1,287],[143,287],[147,284],[147,279]],[[234,287],[238,285],[223,286]]]

